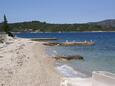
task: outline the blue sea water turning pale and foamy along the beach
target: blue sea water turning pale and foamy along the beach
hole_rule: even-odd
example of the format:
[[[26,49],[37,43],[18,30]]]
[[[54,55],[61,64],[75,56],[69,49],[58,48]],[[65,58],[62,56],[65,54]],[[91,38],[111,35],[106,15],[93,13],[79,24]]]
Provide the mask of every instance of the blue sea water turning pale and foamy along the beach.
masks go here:
[[[58,38],[54,42],[93,41],[94,46],[51,46],[51,56],[80,55],[84,60],[57,61],[56,70],[66,77],[90,77],[93,71],[115,73],[115,32],[16,33],[21,38]]]

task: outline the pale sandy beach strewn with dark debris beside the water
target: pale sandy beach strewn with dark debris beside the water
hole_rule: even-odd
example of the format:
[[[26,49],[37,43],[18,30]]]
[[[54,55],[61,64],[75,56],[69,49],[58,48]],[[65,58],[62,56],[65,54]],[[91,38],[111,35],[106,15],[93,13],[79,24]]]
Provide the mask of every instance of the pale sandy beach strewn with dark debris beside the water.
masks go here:
[[[61,77],[42,42],[15,39],[0,49],[1,86],[59,86]]]

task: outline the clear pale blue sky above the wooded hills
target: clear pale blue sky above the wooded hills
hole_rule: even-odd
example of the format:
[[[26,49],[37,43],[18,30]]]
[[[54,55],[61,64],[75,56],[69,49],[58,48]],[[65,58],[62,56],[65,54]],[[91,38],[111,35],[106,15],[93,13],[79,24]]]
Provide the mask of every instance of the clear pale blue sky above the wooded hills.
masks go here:
[[[0,22],[86,23],[115,19],[115,0],[0,0]]]

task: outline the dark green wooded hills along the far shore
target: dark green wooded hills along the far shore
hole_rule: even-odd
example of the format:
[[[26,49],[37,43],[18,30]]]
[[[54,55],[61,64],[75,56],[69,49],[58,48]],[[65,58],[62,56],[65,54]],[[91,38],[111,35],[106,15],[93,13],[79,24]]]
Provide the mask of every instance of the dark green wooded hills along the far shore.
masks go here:
[[[83,24],[51,24],[40,21],[9,23],[12,32],[72,32],[72,31],[115,31],[115,20]],[[2,23],[0,23],[2,31]]]

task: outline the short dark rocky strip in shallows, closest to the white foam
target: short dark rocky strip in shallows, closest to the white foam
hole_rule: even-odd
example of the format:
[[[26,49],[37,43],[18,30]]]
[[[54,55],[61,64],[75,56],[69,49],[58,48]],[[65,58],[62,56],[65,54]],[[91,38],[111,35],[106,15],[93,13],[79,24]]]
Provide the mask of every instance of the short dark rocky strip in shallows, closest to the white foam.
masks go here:
[[[65,60],[84,60],[84,58],[80,55],[74,55],[74,56],[57,56],[54,57],[56,60],[61,60],[61,59],[65,59]]]

